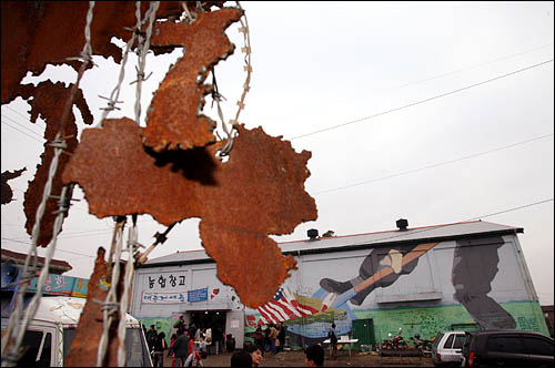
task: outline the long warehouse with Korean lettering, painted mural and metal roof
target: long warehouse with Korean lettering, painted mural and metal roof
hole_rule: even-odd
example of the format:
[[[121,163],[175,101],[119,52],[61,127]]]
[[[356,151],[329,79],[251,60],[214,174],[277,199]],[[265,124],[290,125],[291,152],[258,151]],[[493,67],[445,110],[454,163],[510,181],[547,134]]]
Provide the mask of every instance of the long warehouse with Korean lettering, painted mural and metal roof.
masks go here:
[[[302,348],[337,335],[375,345],[403,329],[431,338],[450,329],[508,328],[548,336],[517,234],[523,228],[475,221],[279,244],[296,259],[274,299],[241,304],[216,278],[204,251],[179,252],[135,270],[131,314],[167,336],[179,315],[188,324],[221,324],[236,346],[259,325],[283,321],[285,346]],[[264,275],[260,275],[264,277]]]

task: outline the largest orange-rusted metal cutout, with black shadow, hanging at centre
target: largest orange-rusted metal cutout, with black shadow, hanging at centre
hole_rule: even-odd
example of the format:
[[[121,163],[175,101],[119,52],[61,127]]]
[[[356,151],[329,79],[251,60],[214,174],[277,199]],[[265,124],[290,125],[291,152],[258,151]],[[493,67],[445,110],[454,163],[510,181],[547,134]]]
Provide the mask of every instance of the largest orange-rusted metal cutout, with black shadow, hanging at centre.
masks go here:
[[[245,305],[258,306],[294,266],[268,235],[289,234],[316,218],[314,200],[304,191],[311,154],[296,153],[261,127],[238,130],[233,154],[222,163],[214,159],[215,145],[149,154],[132,120],[109,119],[102,129],[83,132],[62,178],[81,185],[98,217],[148,213],[165,225],[202,218],[203,246],[220,279]],[[264,283],[253,283],[262,270]]]

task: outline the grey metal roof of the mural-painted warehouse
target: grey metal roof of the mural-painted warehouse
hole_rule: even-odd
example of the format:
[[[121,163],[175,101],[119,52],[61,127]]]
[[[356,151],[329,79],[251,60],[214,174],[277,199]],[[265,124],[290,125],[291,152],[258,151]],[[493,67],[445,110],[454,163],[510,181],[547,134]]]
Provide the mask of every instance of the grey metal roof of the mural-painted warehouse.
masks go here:
[[[345,251],[346,248],[354,248],[357,246],[383,245],[392,243],[406,243],[406,242],[422,242],[432,239],[453,239],[460,237],[475,236],[475,235],[500,235],[500,234],[516,234],[523,233],[522,227],[513,227],[488,223],[484,221],[463,222],[445,225],[433,225],[425,227],[407,228],[406,231],[385,231],[376,233],[319,237],[317,239],[283,242],[278,245],[283,253],[323,253]],[[144,267],[161,266],[164,264],[179,264],[179,263],[202,263],[213,262],[204,249],[178,252],[168,256],[150,259]]]

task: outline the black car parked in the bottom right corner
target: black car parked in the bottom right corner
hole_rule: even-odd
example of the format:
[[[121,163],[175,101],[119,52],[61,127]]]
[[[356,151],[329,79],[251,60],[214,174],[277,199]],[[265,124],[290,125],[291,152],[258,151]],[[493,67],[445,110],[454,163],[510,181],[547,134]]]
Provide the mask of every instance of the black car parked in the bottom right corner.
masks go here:
[[[553,367],[551,337],[533,331],[481,330],[466,333],[464,367]]]

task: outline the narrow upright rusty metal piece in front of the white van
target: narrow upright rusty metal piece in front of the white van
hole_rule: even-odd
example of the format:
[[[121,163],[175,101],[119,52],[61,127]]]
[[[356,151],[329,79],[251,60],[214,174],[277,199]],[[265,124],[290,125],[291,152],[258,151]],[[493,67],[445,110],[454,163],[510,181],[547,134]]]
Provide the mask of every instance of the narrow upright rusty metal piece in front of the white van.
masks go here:
[[[110,283],[108,275],[108,263],[104,260],[105,251],[100,247],[94,260],[94,269],[89,279],[87,292],[87,303],[79,318],[75,329],[75,337],[71,343],[70,355],[64,361],[65,367],[91,367],[97,365],[97,354],[100,337],[103,331],[102,306],[93,300],[105,300],[108,295],[107,283]],[[120,279],[117,286],[118,295],[123,290],[123,275],[125,273],[123,264],[120,264]],[[103,285],[102,285],[102,284]],[[113,315],[109,329],[109,344],[103,367],[118,367],[118,323],[119,314]]]

